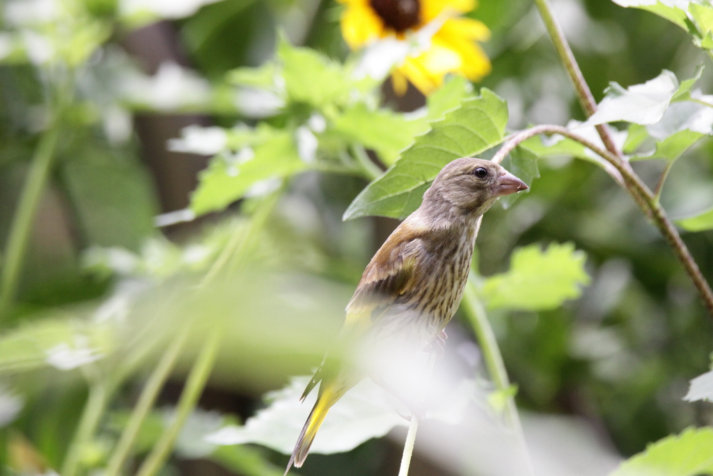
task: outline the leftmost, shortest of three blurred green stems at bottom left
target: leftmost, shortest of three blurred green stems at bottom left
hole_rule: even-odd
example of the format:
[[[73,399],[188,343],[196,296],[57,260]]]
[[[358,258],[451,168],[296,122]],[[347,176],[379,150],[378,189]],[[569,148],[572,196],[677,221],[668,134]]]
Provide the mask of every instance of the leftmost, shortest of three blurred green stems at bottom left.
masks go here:
[[[81,464],[81,452],[91,440],[99,425],[108,401],[108,391],[101,378],[89,386],[89,395],[84,405],[79,425],[72,438],[62,465],[62,476],[75,476]]]

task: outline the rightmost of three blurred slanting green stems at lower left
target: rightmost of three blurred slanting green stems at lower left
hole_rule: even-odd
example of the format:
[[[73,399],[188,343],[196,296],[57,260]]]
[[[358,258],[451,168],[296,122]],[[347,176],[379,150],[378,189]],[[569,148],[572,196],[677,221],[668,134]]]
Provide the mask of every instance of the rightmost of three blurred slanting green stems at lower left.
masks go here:
[[[136,473],[137,476],[154,476],[168,459],[180,430],[185,424],[185,420],[195,409],[203,388],[205,388],[205,383],[207,383],[215,365],[218,350],[220,350],[221,338],[222,330],[220,328],[210,331],[210,335],[200,350],[198,359],[188,374],[188,380],[186,380],[183,392],[178,400],[173,422],[161,434],[158,442],[153,446],[150,454]]]

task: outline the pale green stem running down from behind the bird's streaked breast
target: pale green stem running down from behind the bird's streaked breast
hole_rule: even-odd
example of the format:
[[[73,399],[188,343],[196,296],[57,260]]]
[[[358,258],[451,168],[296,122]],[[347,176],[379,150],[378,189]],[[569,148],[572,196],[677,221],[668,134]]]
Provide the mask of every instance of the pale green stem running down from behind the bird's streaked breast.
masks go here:
[[[488,315],[486,309],[478,299],[478,292],[476,290],[476,284],[471,272],[468,278],[468,283],[466,284],[466,289],[463,291],[463,310],[465,310],[466,317],[471,323],[473,331],[476,333],[476,338],[478,339],[478,344],[481,346],[481,351],[483,352],[483,358],[486,361],[486,368],[488,368],[488,375],[490,375],[493,383],[495,384],[496,390],[500,392],[507,392],[510,389],[510,379],[508,378],[508,371],[505,368],[505,363],[503,362],[503,355],[500,352],[500,347],[498,347],[498,340],[493,333],[493,328],[488,320]],[[520,445],[520,450],[523,452],[523,457],[525,459],[525,464],[528,467],[530,475],[534,474],[532,460],[530,460],[530,452],[525,442],[525,433],[523,432],[523,425],[520,422],[520,415],[518,414],[518,407],[515,405],[515,397],[506,397],[505,405],[505,417],[510,425],[511,430],[515,433],[515,438],[518,440]]]

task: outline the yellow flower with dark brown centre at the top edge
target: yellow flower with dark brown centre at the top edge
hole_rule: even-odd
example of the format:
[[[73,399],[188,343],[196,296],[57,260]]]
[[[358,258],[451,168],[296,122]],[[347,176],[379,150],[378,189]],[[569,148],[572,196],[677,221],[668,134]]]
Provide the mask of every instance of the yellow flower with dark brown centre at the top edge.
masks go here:
[[[475,7],[475,0],[339,0],[346,5],[342,34],[352,49],[384,38],[406,39],[434,22],[440,28],[428,48],[407,56],[394,69],[396,93],[406,92],[406,79],[429,94],[443,83],[446,74],[461,74],[478,81],[491,71],[488,56],[476,41],[490,37],[480,21],[457,16]]]

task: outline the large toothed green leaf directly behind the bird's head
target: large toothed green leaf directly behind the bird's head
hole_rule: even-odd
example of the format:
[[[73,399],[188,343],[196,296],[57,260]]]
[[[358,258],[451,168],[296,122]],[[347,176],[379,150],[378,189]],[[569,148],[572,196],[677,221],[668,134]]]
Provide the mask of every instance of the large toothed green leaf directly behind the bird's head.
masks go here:
[[[405,218],[419,207],[424,192],[446,163],[475,156],[505,137],[508,107],[487,88],[431,123],[431,131],[401,154],[384,175],[369,183],[344,213],[344,220],[380,215]]]

